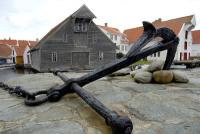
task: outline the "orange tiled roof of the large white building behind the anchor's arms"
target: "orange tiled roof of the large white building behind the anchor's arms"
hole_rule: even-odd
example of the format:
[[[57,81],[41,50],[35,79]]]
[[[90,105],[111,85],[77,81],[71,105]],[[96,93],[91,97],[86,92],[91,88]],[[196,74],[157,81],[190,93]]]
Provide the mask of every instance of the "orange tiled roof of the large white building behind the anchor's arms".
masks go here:
[[[175,18],[175,19],[171,19],[171,20],[167,20],[167,21],[162,21],[161,19],[158,19],[158,20],[152,22],[152,24],[156,28],[160,28],[160,27],[170,28],[175,32],[176,35],[178,35],[183,24],[190,23],[193,17],[194,17],[194,15],[190,15],[190,16]],[[137,28],[131,28],[131,29],[124,30],[124,34],[127,35],[127,38],[130,43],[135,42],[137,40],[137,38],[140,35],[142,35],[142,33],[143,33],[143,27],[137,27]]]

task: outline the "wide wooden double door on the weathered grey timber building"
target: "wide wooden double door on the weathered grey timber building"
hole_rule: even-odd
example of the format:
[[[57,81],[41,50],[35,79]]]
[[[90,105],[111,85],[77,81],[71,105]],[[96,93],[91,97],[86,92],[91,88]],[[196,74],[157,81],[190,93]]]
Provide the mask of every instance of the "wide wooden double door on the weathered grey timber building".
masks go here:
[[[72,52],[72,65],[85,67],[89,65],[89,52]]]

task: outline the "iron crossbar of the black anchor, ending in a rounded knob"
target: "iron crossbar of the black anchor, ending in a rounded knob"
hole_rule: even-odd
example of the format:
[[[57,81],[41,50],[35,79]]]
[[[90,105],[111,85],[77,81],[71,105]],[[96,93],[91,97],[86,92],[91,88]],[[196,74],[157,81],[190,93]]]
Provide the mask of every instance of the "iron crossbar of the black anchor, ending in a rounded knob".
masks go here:
[[[60,72],[57,73],[57,76],[64,82],[69,81],[69,78]],[[120,116],[116,112],[111,111],[77,83],[72,83],[70,88],[105,119],[107,125],[112,128],[113,134],[131,134],[133,124],[127,116]]]

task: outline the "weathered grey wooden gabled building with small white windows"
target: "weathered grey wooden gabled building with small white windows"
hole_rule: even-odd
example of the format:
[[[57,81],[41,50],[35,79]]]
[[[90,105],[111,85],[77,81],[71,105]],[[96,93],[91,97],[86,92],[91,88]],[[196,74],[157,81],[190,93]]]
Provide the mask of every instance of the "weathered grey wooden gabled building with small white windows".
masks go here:
[[[30,50],[32,67],[94,69],[115,60],[116,46],[92,21],[95,15],[83,5],[45,35]]]

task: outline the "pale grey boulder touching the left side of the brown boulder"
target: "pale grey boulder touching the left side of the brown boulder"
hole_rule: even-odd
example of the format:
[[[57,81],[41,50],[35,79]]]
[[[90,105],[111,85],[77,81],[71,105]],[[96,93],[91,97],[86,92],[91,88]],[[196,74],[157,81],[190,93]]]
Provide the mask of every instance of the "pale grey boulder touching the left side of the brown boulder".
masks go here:
[[[138,72],[135,74],[134,80],[138,83],[150,83],[152,80],[152,73]]]

